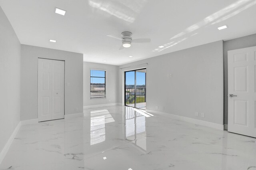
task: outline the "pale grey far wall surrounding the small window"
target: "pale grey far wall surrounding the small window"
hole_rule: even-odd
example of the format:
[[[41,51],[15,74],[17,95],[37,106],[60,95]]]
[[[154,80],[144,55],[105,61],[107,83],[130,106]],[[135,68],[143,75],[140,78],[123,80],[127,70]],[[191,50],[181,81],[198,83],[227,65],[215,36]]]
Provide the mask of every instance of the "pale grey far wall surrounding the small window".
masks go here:
[[[106,98],[90,99],[90,69],[106,70]],[[84,62],[84,106],[118,102],[118,66]]]

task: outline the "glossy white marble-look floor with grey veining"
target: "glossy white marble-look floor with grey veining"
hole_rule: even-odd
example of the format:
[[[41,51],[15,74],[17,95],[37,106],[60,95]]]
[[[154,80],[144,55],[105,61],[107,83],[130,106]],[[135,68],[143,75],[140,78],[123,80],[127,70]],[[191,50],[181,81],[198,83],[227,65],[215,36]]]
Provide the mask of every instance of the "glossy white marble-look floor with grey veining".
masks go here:
[[[131,107],[22,125],[1,170],[256,170],[256,139]]]

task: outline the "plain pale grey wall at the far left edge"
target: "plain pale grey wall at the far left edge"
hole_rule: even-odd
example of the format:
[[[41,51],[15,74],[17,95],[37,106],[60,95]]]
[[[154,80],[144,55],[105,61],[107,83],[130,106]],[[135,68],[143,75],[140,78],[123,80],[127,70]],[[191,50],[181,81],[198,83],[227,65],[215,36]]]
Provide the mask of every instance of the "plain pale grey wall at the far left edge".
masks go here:
[[[0,7],[0,152],[20,122],[20,42]]]

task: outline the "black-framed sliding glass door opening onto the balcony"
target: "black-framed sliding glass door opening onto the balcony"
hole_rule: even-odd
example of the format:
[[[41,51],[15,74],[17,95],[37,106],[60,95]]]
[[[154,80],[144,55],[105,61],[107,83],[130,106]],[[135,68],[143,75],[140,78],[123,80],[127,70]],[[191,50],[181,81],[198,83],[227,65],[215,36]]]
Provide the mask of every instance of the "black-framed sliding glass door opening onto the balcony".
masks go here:
[[[146,69],[124,73],[125,105],[146,109]]]

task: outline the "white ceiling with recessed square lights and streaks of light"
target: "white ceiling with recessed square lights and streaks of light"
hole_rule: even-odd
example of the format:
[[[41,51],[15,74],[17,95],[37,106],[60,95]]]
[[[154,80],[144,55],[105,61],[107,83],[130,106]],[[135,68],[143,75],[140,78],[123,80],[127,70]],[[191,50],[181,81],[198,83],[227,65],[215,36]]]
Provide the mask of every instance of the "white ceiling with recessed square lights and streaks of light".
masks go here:
[[[256,0],[0,0],[0,6],[20,43],[112,65],[256,33]],[[228,28],[219,31],[223,25]],[[124,31],[151,42],[118,50],[121,41],[106,35]]]

